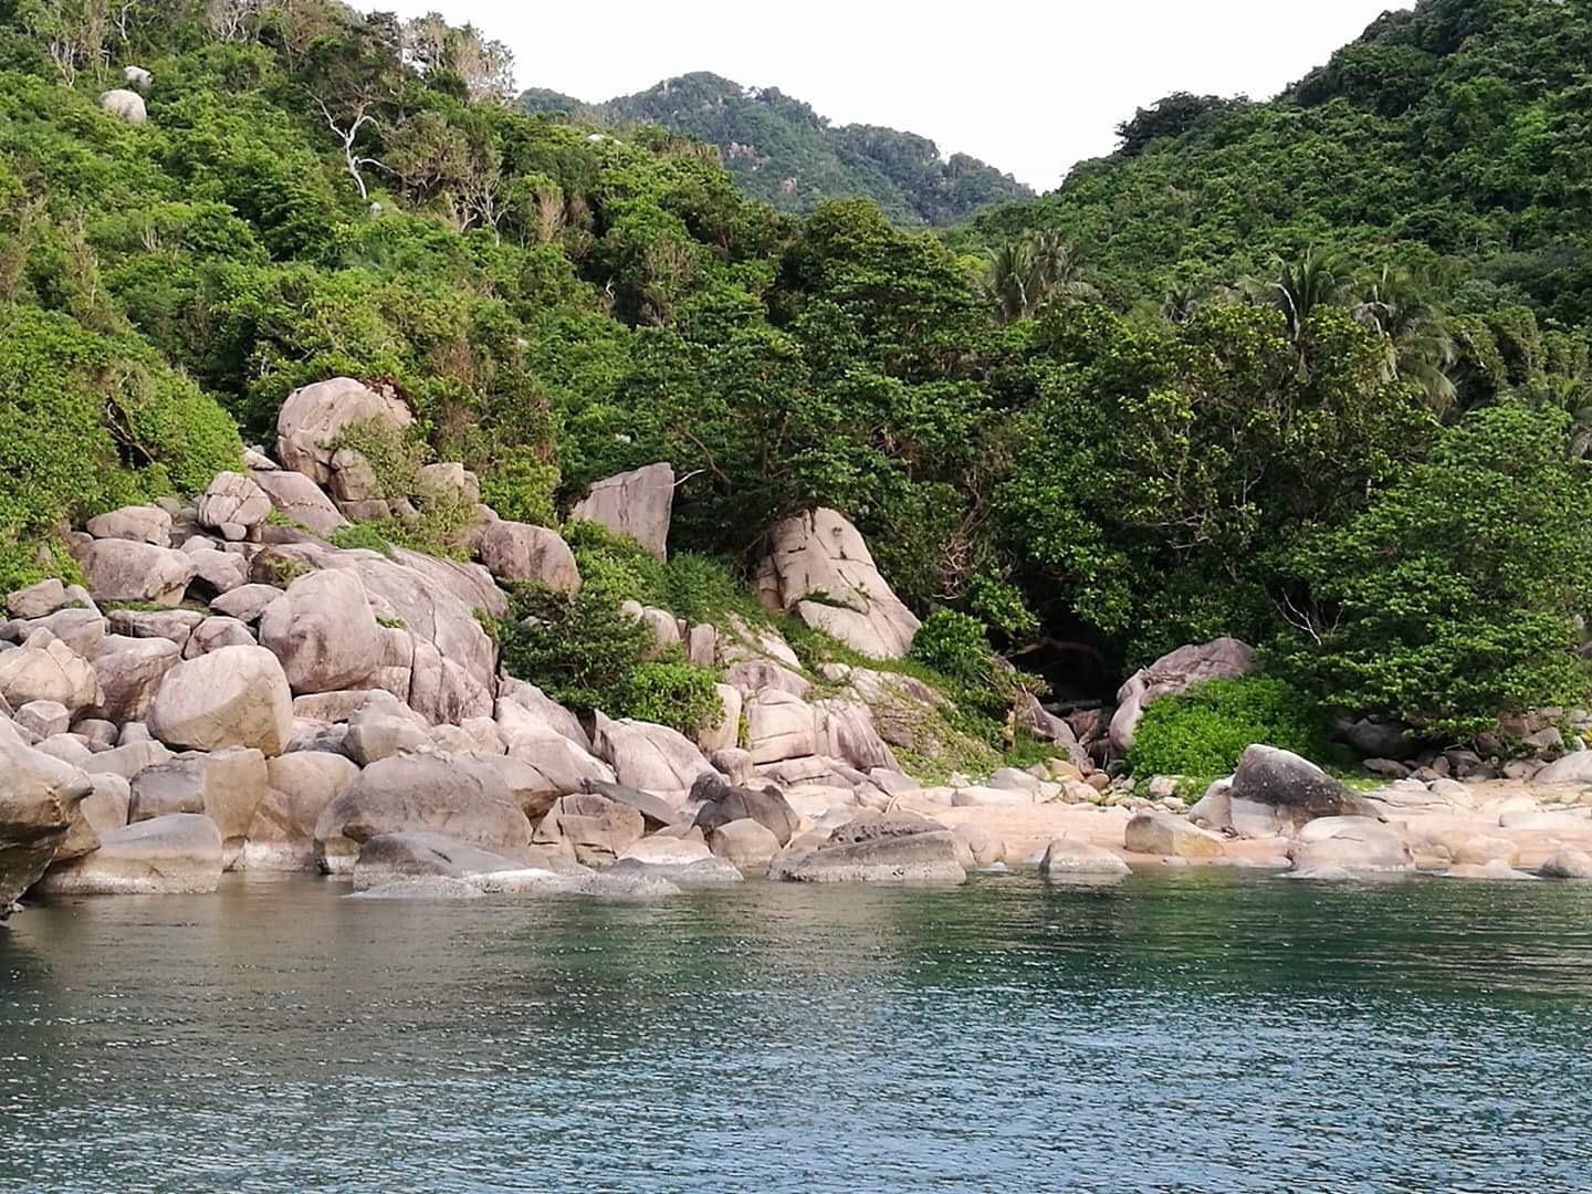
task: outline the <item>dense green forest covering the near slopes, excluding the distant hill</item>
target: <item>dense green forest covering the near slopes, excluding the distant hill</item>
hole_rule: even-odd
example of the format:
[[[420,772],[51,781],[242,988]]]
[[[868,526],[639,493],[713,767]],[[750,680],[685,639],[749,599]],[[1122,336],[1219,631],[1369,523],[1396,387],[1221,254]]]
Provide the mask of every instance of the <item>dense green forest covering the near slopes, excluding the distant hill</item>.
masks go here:
[[[1102,693],[1237,635],[1442,732],[1586,696],[1574,6],[1426,0],[949,240],[521,111],[503,48],[435,21],[0,18],[0,587],[345,374],[505,517],[669,460],[672,546],[740,567],[833,506],[974,685],[984,643]],[[127,65],[145,123],[100,103]],[[446,546],[443,513],[379,533]]]

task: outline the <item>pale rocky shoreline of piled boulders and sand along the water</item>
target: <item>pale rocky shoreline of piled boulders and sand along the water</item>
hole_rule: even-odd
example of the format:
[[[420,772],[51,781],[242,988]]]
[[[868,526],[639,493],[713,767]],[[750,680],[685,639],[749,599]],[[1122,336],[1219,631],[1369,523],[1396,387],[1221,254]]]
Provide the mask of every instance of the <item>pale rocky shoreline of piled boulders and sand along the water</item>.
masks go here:
[[[809,677],[767,627],[637,605],[661,648],[718,670],[721,716],[694,737],[581,720],[501,673],[487,632],[508,610],[500,583],[579,587],[557,532],[498,519],[473,476],[431,465],[428,484],[476,509],[474,562],[328,541],[350,519],[403,514],[336,446],[371,417],[409,419],[350,379],[306,387],[282,408],[275,458],[252,451],[193,505],[91,519],[65,533],[83,586],[6,597],[0,909],[29,892],[212,892],[237,869],[323,872],[366,898],[653,898],[748,876],[957,884],[1000,866],[1592,877],[1576,755],[1530,786],[1395,764],[1401,778],[1356,794],[1251,747],[1192,809],[1159,782],[1108,780],[1098,751],[1130,739],[1143,704],[1248,667],[1234,640],[1130,678],[1083,742],[1030,700],[1028,729],[1054,758],[925,786],[892,745],[942,700],[888,667],[917,619],[825,509],[772,529],[758,595],[877,669]],[[653,465],[599,482],[578,511],[664,556],[672,495],[672,470]]]

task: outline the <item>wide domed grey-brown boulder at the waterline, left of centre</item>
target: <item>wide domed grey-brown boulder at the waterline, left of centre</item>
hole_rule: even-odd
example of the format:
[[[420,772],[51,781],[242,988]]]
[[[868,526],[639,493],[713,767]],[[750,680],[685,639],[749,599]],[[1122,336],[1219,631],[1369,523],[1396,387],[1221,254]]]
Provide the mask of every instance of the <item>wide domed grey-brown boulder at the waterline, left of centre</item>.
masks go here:
[[[443,755],[401,755],[373,763],[322,810],[315,861],[345,874],[371,837],[412,829],[489,850],[530,844],[530,821],[501,778]]]

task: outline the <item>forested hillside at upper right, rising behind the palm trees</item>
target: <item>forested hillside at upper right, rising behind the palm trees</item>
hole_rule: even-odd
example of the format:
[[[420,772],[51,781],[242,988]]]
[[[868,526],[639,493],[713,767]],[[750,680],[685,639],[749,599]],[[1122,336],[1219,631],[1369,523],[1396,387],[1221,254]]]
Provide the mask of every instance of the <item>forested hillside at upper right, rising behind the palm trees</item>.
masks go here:
[[[1592,315],[1592,14],[1425,0],[1280,99],[1173,96],[973,242],[1057,229],[1113,301],[1188,302],[1331,244],[1441,282],[1446,306]],[[968,242],[963,242],[968,244]]]

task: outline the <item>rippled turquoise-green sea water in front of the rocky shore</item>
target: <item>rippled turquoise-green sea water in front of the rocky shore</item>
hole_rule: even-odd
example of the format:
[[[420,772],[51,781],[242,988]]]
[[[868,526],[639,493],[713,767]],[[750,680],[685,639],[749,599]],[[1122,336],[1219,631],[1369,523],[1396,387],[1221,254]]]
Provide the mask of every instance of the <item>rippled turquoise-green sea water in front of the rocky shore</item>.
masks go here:
[[[0,930],[0,1188],[1592,1189],[1592,885],[1226,872]]]

